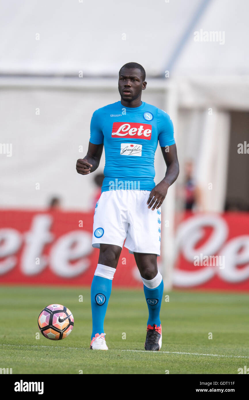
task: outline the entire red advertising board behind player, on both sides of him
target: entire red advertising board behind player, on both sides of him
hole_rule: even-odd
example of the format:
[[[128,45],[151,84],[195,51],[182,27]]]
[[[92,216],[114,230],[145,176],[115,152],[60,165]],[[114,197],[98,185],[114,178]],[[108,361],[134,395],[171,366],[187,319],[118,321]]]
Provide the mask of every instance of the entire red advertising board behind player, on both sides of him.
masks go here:
[[[0,284],[90,286],[99,254],[92,224],[93,212],[0,210]],[[187,213],[176,245],[175,288],[249,291],[248,213]],[[125,247],[115,286],[143,286]]]

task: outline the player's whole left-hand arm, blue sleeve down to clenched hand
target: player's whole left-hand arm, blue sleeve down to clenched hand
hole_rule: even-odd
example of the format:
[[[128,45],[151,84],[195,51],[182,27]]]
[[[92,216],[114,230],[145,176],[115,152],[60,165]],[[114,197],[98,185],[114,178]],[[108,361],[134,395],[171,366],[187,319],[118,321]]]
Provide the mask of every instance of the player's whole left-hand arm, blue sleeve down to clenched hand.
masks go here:
[[[76,162],[76,171],[78,174],[90,174],[90,172],[98,168],[104,146],[104,135],[102,132],[103,114],[104,107],[98,108],[92,114],[88,152],[84,158],[79,158]]]

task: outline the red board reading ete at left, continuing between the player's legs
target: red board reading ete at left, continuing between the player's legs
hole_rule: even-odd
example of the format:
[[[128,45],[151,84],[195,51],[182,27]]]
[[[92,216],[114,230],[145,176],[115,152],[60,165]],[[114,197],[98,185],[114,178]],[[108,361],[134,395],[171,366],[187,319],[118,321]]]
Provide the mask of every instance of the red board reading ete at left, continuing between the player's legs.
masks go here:
[[[1,210],[0,284],[90,286],[99,255],[92,225],[93,212]],[[123,247],[113,286],[141,287],[135,266]]]

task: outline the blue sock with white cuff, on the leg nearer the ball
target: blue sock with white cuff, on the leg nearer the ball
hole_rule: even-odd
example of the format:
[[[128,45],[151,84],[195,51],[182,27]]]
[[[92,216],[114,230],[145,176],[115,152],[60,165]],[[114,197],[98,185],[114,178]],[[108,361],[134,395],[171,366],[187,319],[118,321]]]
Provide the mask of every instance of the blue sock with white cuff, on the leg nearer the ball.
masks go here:
[[[115,268],[98,264],[91,286],[92,335],[104,333],[104,317],[112,290]],[[101,276],[100,276],[101,275]]]

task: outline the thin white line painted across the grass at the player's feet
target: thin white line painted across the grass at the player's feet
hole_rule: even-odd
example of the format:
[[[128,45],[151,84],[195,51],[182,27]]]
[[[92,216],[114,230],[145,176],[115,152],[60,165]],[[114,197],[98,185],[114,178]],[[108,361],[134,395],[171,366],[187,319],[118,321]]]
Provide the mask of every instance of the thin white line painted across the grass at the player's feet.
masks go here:
[[[46,348],[56,348],[56,349],[73,349],[73,350],[89,350],[84,347],[66,347],[66,346],[38,346],[34,344],[0,344],[0,346],[14,346],[14,347],[46,347]],[[113,349],[117,351],[130,351],[135,353],[148,353],[148,350],[119,350]],[[157,354],[187,354],[190,356],[211,356],[211,357],[230,357],[230,358],[249,358],[248,356],[227,356],[225,354],[207,354],[207,353],[188,353],[188,352],[180,352],[180,351],[150,351],[150,353]]]

